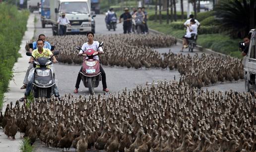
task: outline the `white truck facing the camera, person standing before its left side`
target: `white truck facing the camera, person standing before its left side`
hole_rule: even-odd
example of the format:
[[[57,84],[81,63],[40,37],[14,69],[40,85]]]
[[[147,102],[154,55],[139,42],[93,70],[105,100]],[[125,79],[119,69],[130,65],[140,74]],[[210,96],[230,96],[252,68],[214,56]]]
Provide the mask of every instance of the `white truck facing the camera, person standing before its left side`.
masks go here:
[[[91,0],[50,0],[50,13],[53,35],[59,35],[60,25],[57,21],[62,13],[65,13],[71,25],[67,26],[66,34],[95,32],[92,22],[95,15],[91,16]]]

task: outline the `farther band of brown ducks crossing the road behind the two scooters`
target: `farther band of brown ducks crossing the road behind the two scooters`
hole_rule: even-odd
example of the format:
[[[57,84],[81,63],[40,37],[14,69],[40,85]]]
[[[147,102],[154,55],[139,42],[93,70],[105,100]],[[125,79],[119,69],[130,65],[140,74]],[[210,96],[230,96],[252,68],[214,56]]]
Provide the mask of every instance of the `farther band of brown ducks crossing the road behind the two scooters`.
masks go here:
[[[87,38],[82,35],[48,38],[55,44],[56,50],[61,50],[58,60],[64,63],[80,64],[82,57],[76,54],[74,46],[82,46]],[[201,88],[217,82],[237,81],[244,79],[242,61],[226,56],[213,55],[187,56],[168,53],[160,54],[153,48],[170,47],[176,44],[176,39],[166,35],[148,34],[145,36],[113,34],[96,35],[95,40],[103,41],[105,53],[100,56],[101,64],[109,66],[145,68],[162,68],[178,70],[182,81],[193,87]],[[146,44],[146,45],[144,45]]]

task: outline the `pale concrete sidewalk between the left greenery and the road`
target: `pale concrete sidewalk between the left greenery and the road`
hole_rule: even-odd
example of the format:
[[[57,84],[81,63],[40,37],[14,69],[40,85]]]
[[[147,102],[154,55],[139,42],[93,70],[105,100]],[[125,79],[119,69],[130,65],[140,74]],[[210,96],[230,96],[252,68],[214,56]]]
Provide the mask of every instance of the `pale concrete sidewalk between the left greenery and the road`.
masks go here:
[[[18,58],[18,61],[13,66],[13,79],[9,82],[9,90],[4,94],[4,103],[2,107],[2,112],[4,113],[6,105],[12,101],[15,105],[15,102],[19,100],[24,95],[24,90],[20,90],[20,87],[23,84],[23,79],[28,67],[29,57],[26,56],[25,45],[26,42],[31,40],[34,36],[34,14],[30,14],[27,22],[27,31],[23,36],[23,39],[20,44],[19,53],[22,57]],[[20,139],[20,133],[17,132],[15,136],[16,140],[9,140],[6,135],[3,133],[3,130],[0,129],[0,151],[1,152],[19,152],[19,146],[22,140]]]

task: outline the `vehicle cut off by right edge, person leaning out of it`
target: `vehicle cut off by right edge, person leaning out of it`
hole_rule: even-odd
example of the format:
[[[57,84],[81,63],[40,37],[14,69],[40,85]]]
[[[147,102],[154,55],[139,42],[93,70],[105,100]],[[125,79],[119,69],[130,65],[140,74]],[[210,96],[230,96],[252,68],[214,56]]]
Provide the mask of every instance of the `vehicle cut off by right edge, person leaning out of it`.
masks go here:
[[[252,29],[249,51],[244,57],[245,89],[250,92],[256,86],[256,29]]]

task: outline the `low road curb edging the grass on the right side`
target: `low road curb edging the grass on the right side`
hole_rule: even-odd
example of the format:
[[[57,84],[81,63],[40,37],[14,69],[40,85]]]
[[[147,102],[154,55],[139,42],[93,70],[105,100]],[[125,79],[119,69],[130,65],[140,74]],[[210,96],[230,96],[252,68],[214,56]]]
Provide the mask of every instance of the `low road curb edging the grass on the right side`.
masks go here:
[[[164,34],[164,33],[162,33],[162,32],[159,32],[159,31],[156,31],[156,30],[153,30],[153,29],[149,29],[149,31],[150,31],[151,33],[155,33],[155,34],[166,35],[166,34]],[[173,36],[171,36],[171,37],[173,37]],[[182,42],[183,42],[182,39],[177,39],[176,37],[173,37],[173,38],[175,38],[175,39],[177,40],[177,42],[179,42],[179,43],[182,43]],[[226,57],[226,56],[228,56],[228,55],[223,54],[223,53],[220,53],[220,52],[216,52],[216,51],[212,51],[212,50],[207,49],[207,48],[203,48],[202,46],[196,45],[196,48],[197,48],[199,51],[202,51],[202,52],[205,52],[205,53],[208,53],[208,54],[213,54],[213,55],[215,55],[215,56],[218,56],[218,55],[220,55],[221,57]]]

